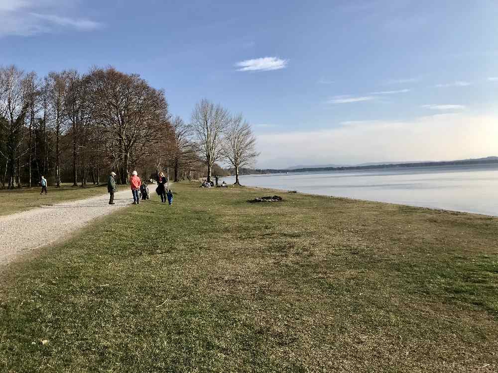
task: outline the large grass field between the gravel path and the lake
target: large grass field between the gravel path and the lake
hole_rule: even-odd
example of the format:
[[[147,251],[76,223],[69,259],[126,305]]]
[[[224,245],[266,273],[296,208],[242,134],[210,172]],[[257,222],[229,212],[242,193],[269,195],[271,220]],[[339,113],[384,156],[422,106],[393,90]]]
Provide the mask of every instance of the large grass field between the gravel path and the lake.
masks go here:
[[[497,372],[497,218],[173,187],[3,271],[1,369]]]

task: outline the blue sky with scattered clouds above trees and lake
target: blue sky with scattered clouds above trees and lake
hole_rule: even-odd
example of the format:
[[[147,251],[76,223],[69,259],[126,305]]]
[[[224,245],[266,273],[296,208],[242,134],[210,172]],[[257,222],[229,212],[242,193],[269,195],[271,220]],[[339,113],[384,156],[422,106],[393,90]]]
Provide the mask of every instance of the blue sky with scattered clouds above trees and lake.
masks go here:
[[[258,168],[498,156],[496,0],[0,0],[0,65],[242,112]]]

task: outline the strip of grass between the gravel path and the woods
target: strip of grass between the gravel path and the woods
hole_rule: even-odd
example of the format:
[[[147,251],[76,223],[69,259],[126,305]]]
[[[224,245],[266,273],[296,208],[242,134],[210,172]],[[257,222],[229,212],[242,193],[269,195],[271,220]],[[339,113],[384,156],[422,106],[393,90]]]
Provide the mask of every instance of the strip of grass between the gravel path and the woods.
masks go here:
[[[96,187],[71,187],[69,184],[60,188],[48,187],[48,194],[40,195],[40,188],[24,188],[16,190],[0,189],[0,215],[29,210],[41,205],[88,198],[107,193],[107,184]]]

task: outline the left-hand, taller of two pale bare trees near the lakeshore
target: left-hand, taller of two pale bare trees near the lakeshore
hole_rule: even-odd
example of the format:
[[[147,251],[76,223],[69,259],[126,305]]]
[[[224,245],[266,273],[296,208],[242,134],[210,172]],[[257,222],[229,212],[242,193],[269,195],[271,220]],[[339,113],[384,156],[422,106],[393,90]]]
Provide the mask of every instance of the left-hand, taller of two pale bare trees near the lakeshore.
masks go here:
[[[215,106],[207,99],[198,102],[192,112],[191,125],[199,153],[208,168],[208,181],[211,181],[214,163],[224,158],[222,137],[229,120],[226,109],[221,105]]]

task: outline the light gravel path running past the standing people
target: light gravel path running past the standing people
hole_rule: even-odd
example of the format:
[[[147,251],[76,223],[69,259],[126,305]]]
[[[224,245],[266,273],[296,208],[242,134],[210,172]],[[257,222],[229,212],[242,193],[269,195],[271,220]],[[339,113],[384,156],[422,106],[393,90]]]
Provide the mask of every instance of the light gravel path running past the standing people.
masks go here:
[[[42,206],[12,215],[0,216],[0,265],[7,264],[38,247],[69,236],[90,220],[110,214],[133,202],[131,191]]]

